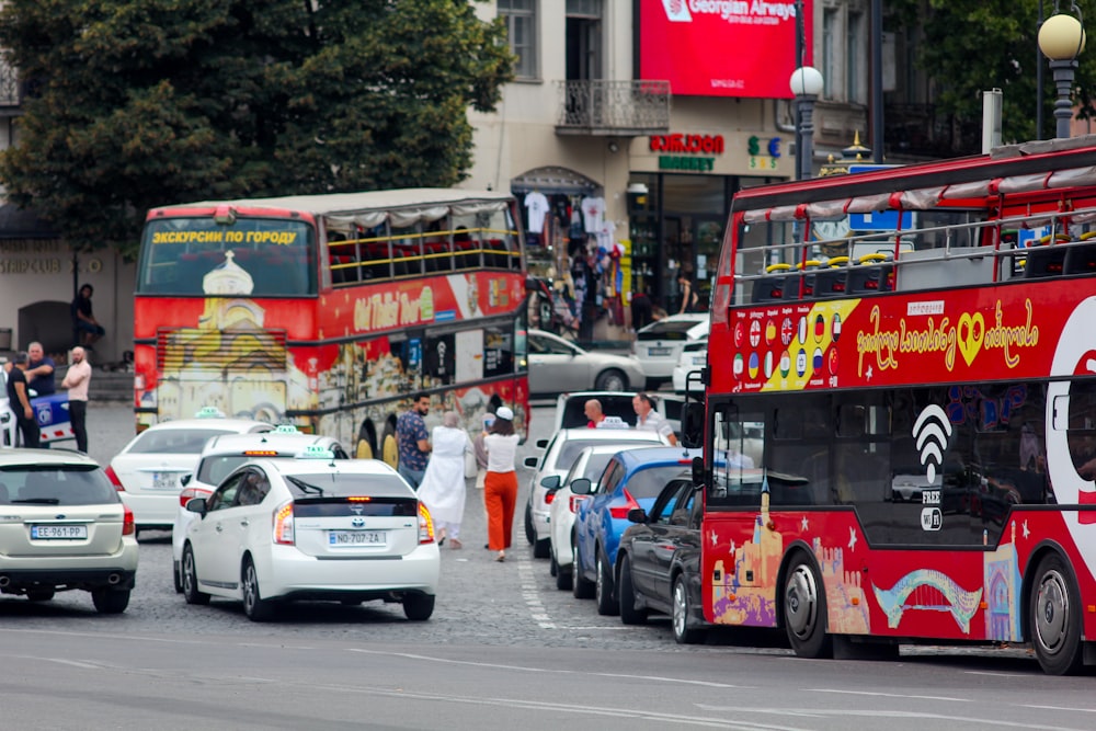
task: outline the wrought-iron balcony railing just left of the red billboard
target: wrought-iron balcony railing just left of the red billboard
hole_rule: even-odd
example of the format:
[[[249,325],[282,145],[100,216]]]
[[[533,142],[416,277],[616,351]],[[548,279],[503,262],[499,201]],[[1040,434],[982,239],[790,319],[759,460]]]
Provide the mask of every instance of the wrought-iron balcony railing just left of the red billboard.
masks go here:
[[[669,81],[558,81],[557,135],[641,136],[670,129]]]

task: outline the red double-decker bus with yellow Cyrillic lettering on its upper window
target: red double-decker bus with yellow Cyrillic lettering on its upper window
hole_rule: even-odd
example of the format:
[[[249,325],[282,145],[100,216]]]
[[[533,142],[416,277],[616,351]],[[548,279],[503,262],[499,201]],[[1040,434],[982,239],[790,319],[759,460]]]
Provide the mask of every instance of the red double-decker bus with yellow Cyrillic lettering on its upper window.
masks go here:
[[[415,391],[481,427],[528,418],[516,203],[410,189],[150,210],[135,302],[137,429],[214,407],[395,464]]]

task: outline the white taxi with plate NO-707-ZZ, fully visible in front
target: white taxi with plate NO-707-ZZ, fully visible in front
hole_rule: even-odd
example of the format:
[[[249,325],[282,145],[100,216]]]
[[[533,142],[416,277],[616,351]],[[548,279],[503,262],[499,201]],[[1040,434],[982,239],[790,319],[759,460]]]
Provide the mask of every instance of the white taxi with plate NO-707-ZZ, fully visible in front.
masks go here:
[[[380,460],[339,461],[324,449],[254,459],[186,510],[198,515],[183,542],[187,604],[242,601],[253,621],[295,599],[399,602],[412,620],[434,612],[433,522]]]

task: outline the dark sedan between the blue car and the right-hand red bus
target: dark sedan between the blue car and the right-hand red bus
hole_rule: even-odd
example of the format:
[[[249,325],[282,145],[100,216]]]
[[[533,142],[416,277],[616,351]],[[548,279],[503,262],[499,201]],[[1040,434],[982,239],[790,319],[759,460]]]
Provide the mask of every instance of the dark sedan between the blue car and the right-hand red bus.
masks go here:
[[[635,525],[624,532],[617,550],[624,624],[642,624],[649,612],[658,612],[670,615],[678,643],[704,641],[701,515],[700,495],[688,472],[671,480],[650,511],[633,509],[628,513]]]

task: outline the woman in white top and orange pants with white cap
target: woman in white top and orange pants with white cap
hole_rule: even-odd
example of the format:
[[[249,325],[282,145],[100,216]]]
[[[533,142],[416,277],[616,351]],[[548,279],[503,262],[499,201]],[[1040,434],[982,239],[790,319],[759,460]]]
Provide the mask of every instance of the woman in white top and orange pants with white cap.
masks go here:
[[[495,561],[506,560],[514,533],[514,509],[517,505],[518,436],[514,433],[514,412],[499,407],[494,423],[483,434],[487,450],[487,476],[483,478],[483,504],[487,506],[488,548],[498,551]]]

